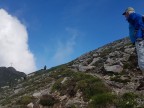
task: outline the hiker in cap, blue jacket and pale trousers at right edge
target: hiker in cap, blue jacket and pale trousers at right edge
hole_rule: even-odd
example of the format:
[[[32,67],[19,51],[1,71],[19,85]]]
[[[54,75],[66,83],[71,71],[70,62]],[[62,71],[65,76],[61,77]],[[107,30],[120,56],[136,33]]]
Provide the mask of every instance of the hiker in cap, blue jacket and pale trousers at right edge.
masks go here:
[[[129,23],[129,36],[136,46],[138,65],[144,75],[144,22],[143,16],[135,13],[134,8],[128,7],[122,14]]]

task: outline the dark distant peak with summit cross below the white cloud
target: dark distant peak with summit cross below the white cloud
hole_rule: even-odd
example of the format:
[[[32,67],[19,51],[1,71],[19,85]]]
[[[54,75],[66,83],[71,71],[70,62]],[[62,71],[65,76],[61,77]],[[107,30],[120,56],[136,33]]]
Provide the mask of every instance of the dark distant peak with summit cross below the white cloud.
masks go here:
[[[17,80],[23,79],[26,74],[19,72],[13,67],[0,67],[0,88],[13,86]]]

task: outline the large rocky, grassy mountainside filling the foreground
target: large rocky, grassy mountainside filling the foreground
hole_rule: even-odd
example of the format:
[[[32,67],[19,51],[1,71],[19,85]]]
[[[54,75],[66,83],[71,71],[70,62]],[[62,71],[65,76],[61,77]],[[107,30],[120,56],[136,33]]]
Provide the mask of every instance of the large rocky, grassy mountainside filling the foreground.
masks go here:
[[[40,70],[0,92],[1,108],[144,108],[144,82],[128,38]]]

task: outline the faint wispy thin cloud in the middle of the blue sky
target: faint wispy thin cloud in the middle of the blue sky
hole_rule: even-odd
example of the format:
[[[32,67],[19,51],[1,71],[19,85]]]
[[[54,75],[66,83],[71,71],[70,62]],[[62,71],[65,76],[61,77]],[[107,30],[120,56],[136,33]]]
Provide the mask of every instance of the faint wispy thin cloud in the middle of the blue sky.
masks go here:
[[[69,39],[67,39],[66,42],[58,41],[58,47],[53,57],[53,61],[56,65],[68,62],[70,55],[74,52],[76,37],[79,33],[77,30],[72,28],[66,28],[66,31],[69,33]]]

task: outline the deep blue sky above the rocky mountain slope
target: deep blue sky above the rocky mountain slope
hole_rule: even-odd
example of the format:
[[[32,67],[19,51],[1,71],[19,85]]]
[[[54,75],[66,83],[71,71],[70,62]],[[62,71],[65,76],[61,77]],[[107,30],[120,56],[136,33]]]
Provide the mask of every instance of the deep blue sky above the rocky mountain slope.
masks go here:
[[[128,36],[123,11],[144,14],[143,0],[0,0],[27,28],[37,69],[69,62]]]

